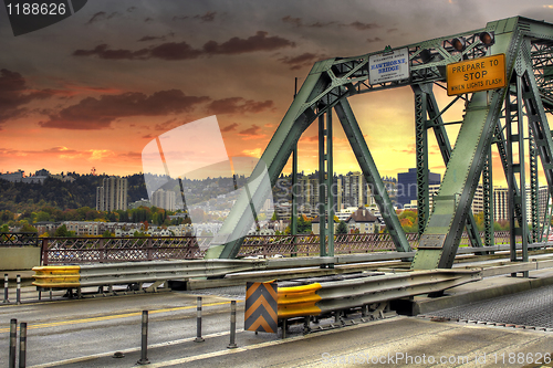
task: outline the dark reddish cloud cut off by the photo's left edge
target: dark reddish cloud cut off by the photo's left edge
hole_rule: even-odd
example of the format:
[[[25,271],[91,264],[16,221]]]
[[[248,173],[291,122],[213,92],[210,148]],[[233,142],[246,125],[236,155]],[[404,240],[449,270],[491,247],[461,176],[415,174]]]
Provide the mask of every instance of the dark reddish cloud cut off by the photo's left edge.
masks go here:
[[[23,117],[28,112],[23,105],[60,94],[62,92],[54,90],[32,90],[20,73],[2,69],[0,70],[0,124],[11,118]]]

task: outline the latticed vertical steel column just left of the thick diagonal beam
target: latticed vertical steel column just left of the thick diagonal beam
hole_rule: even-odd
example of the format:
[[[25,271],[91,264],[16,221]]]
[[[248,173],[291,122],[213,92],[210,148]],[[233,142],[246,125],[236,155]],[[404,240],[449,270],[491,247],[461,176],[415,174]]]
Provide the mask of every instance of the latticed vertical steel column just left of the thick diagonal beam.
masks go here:
[[[427,134],[427,94],[415,90],[415,151],[417,160],[417,209],[418,233],[425,232],[430,213],[428,194],[428,134]]]

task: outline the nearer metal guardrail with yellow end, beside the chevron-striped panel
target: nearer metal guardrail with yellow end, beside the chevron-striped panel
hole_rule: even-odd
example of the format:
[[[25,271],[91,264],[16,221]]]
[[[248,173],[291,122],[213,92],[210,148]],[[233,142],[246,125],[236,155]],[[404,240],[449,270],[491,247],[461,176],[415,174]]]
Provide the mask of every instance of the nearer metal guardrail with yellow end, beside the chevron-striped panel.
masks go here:
[[[425,270],[279,287],[279,318],[317,316],[482,280],[482,269]]]

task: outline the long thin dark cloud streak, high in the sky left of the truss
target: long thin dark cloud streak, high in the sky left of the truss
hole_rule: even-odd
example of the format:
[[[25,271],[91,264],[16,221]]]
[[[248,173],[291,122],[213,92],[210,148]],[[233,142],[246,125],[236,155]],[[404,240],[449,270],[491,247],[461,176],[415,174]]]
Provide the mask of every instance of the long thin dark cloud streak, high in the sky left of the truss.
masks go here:
[[[112,50],[107,44],[100,44],[92,50],[75,50],[74,56],[98,56],[109,60],[188,60],[209,55],[232,55],[257,51],[274,51],[283,48],[295,48],[295,43],[278,35],[268,36],[267,32],[258,31],[247,39],[232,38],[218,43],[208,41],[202,49],[194,49],[187,42],[167,42],[136,51],[118,49]]]

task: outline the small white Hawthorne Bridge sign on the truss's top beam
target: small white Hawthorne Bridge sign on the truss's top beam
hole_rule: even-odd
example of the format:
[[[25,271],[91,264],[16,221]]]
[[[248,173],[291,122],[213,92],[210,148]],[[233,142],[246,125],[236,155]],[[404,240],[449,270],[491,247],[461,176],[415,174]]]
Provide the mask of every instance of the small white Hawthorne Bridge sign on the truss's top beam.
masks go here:
[[[368,56],[371,84],[409,78],[409,50],[400,49]]]

